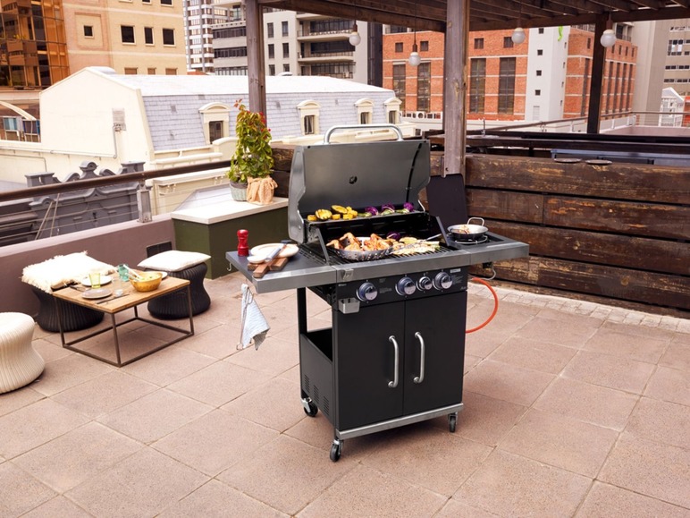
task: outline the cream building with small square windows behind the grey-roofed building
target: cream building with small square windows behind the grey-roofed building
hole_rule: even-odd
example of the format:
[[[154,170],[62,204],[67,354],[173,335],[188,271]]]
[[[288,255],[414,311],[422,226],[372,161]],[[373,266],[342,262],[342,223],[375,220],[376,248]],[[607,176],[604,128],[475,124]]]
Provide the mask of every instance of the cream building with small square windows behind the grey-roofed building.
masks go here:
[[[173,5],[161,0],[71,0],[63,3],[70,72],[87,66],[108,66],[117,73],[137,69],[140,74],[166,69],[186,73],[182,0]],[[91,25],[94,36],[84,36],[84,25]],[[121,25],[134,27],[135,43],[123,44]],[[154,44],[144,43],[144,27],[153,28]],[[172,29],[174,46],[163,45],[163,29]]]

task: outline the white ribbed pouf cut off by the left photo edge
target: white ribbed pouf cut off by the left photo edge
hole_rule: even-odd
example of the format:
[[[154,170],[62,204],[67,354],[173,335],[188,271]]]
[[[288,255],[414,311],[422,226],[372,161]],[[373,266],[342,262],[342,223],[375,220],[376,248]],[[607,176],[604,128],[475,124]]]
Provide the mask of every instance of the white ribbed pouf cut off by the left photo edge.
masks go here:
[[[31,345],[34,319],[23,313],[0,313],[0,394],[29,385],[46,362]]]

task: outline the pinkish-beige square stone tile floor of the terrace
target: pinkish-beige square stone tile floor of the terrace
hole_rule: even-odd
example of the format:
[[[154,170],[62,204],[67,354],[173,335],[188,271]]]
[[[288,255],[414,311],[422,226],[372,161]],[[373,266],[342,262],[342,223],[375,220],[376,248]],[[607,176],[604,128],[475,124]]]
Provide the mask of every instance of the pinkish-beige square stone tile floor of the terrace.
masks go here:
[[[242,282],[206,281],[197,334],[122,369],[37,327],[44,373],[0,395],[0,516],[690,516],[690,320],[499,288],[457,432],[351,438],[332,463],[299,403],[294,293],[257,295],[269,338],[238,351]],[[472,284],[468,327],[491,310]]]

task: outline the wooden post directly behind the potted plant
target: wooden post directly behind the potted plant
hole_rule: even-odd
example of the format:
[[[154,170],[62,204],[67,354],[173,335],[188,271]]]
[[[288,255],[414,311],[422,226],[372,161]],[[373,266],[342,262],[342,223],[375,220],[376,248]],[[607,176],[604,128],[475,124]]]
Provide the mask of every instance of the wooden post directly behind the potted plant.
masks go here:
[[[247,17],[247,61],[249,109],[266,115],[266,77],[264,67],[264,12],[258,0],[245,0]]]

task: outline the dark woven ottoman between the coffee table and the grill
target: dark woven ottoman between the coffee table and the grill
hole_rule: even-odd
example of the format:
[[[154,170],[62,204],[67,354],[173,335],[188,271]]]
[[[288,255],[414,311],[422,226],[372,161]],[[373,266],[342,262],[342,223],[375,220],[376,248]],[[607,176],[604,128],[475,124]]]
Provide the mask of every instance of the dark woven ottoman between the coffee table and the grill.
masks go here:
[[[204,289],[204,276],[208,267],[206,263],[199,263],[193,267],[188,267],[178,272],[169,272],[168,275],[180,279],[189,280],[189,294],[191,296],[192,315],[203,313],[211,307],[211,297]],[[189,307],[187,305],[187,291],[180,290],[170,295],[158,297],[148,302],[148,312],[164,320],[174,318],[188,318]]]

